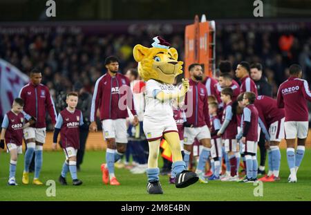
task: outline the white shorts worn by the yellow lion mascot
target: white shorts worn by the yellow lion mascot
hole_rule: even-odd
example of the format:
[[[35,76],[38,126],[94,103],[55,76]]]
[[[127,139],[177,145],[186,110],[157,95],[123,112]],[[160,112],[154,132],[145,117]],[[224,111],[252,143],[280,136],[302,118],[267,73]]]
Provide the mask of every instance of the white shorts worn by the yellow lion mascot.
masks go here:
[[[178,133],[176,121],[173,118],[161,122],[144,119],[143,129],[144,135],[146,135],[149,142],[161,139],[164,133]]]

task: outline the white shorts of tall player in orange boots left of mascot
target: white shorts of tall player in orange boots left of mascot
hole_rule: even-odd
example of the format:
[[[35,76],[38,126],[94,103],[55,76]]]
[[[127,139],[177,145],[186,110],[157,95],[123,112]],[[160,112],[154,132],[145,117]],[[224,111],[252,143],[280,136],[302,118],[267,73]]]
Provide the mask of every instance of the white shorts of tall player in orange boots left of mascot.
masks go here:
[[[126,120],[102,120],[102,133],[105,139],[115,138],[115,142],[127,143]]]

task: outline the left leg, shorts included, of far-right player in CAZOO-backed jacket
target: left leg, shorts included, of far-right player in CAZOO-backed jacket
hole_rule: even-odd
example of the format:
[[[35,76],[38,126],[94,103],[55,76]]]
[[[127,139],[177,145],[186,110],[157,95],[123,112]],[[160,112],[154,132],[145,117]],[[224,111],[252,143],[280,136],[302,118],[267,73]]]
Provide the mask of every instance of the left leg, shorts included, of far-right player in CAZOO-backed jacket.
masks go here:
[[[296,122],[285,122],[284,123],[285,129],[285,140],[286,140],[286,156],[288,158],[288,167],[290,168],[290,177],[289,182],[295,183],[296,178],[296,170],[295,170],[295,142],[297,136],[297,124]]]

